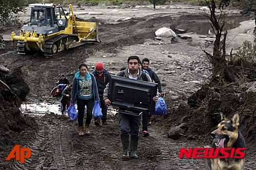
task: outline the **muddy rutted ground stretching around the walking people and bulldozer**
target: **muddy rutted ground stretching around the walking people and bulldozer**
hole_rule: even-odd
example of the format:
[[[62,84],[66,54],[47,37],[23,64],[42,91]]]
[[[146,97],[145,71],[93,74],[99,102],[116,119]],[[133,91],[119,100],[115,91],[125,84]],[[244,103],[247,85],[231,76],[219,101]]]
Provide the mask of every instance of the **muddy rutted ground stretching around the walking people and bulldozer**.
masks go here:
[[[124,9],[123,12],[120,9],[113,12],[113,9],[88,8],[103,13],[93,17],[75,8],[75,13],[80,13],[79,18],[98,23],[102,43],[80,46],[52,59],[46,59],[39,53],[17,55],[7,41],[9,51],[1,54],[1,62],[10,69],[20,67],[24,73],[30,88],[27,103],[58,103],[51,98],[51,89],[62,73],[71,81],[81,61],[89,65],[90,71],[97,62],[103,62],[111,74],[116,74],[127,65],[127,57],[137,55],[140,59],[151,60],[151,67],[162,83],[168,115],[153,116],[152,124],[148,127],[150,136],[140,137],[139,140],[139,159],[122,161],[117,116],[108,115],[106,126],[96,127],[92,122],[92,134],[79,137],[77,122],[72,122],[65,115],[49,110],[45,116],[30,118],[25,112],[25,119],[30,120],[29,127],[21,128],[20,132],[3,131],[1,137],[6,142],[3,142],[5,147],[1,148],[0,169],[209,169],[205,159],[179,159],[178,156],[181,148],[209,147],[211,131],[196,134],[196,140],[187,140],[189,134],[179,140],[167,138],[168,130],[177,125],[172,122],[170,114],[181,104],[186,104],[189,96],[208,82],[211,75],[211,65],[205,59],[202,48],[211,52],[214,37],[208,35],[210,25],[202,15],[204,11],[199,8],[174,5],[157,10],[138,7]],[[238,23],[245,22],[248,27],[239,31],[243,33],[243,38],[250,39],[250,30],[254,26],[248,23],[252,17],[238,17],[235,11],[231,12],[230,17],[236,18]],[[26,17],[27,14],[24,19]],[[117,21],[118,18],[127,17],[131,18]],[[162,27],[183,29],[190,34],[185,39],[177,37],[175,41],[172,38],[157,40],[154,32]],[[236,47],[230,46],[234,50],[238,50],[239,44],[242,44],[239,31],[232,34],[238,38]],[[234,39],[233,36],[230,40]],[[205,120],[197,121],[207,124]],[[12,138],[12,142],[9,142],[9,138]],[[25,164],[15,160],[4,161],[17,143],[32,151],[31,158],[26,159]],[[245,169],[256,169],[255,145],[250,143],[247,152]]]

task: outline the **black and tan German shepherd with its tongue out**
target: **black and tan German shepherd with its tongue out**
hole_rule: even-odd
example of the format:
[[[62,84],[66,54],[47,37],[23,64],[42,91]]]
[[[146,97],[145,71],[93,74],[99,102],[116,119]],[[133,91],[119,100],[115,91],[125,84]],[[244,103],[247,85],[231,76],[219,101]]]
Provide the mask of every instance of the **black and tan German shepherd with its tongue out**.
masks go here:
[[[221,113],[221,123],[219,123],[215,131],[211,132],[211,136],[214,138],[212,148],[245,148],[245,140],[238,126],[238,113],[235,114],[231,120],[227,119]],[[245,151],[241,152],[245,154]],[[244,158],[217,157],[208,159],[208,165],[212,170],[241,170],[244,168]]]

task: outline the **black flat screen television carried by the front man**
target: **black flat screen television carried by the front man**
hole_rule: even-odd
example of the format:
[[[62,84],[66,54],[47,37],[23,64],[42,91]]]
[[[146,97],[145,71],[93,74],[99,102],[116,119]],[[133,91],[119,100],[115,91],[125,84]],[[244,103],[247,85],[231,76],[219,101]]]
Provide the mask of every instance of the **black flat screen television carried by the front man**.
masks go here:
[[[155,112],[157,83],[110,76],[109,100],[119,112],[139,115],[143,111]]]

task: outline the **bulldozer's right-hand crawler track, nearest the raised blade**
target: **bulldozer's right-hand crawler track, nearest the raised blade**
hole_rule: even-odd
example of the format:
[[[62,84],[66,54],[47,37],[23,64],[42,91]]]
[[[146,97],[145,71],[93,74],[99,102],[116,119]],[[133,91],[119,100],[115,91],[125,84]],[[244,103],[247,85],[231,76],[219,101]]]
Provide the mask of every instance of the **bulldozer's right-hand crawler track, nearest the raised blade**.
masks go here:
[[[45,57],[46,58],[52,58],[52,57],[56,57],[56,56],[60,56],[60,55],[68,53],[72,47],[68,48],[68,49],[65,48],[65,50],[60,51],[60,52],[57,51],[56,53],[53,53],[53,45],[55,44],[57,46],[56,43],[58,41],[60,41],[61,39],[64,39],[64,38],[68,38],[68,37],[78,39],[77,35],[61,34],[61,35],[57,35],[57,36],[45,41],[45,47],[44,47]],[[57,48],[58,48],[58,46],[57,46]]]

